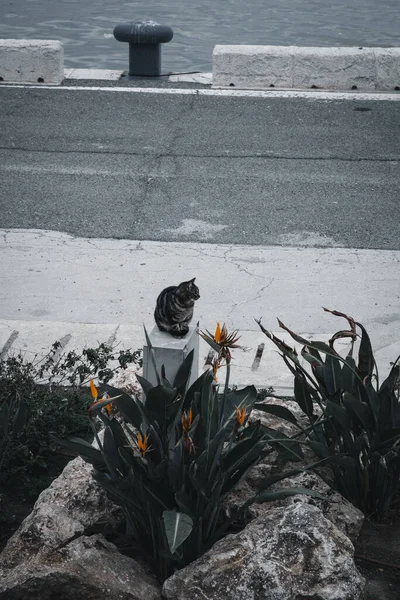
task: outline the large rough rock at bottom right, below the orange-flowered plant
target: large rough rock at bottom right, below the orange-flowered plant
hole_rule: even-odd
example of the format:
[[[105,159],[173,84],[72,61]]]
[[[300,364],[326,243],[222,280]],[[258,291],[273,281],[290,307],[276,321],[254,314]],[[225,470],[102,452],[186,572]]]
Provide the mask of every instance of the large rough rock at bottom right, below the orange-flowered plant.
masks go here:
[[[315,506],[269,510],[164,582],[167,600],[359,600],[350,540]]]

